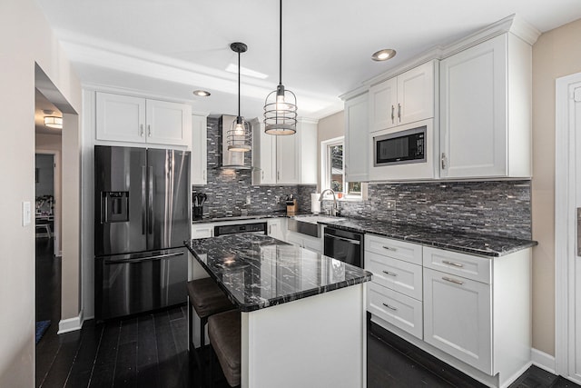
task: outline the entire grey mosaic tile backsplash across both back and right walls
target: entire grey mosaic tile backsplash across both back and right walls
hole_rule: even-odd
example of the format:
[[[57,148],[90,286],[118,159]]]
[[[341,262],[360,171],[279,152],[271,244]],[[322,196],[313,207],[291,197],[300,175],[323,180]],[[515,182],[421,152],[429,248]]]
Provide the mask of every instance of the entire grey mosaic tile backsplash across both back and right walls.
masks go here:
[[[302,212],[310,212],[315,185],[253,186],[251,171],[229,171],[222,163],[218,119],[208,119],[208,184],[192,186],[205,193],[203,214],[212,217],[284,212],[281,200],[293,194]],[[530,239],[530,181],[369,184],[369,200],[340,202],[341,214],[386,223],[413,224],[442,230]],[[247,204],[250,198],[250,204]],[[386,208],[396,201],[396,210]],[[330,207],[325,201],[323,208]]]

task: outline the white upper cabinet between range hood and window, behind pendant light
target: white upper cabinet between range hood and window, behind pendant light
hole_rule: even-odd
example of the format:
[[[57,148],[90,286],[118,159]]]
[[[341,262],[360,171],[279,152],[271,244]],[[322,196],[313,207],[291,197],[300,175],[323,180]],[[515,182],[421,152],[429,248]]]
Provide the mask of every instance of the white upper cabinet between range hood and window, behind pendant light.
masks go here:
[[[316,122],[299,120],[296,134],[278,136],[252,127],[252,184],[317,184]]]

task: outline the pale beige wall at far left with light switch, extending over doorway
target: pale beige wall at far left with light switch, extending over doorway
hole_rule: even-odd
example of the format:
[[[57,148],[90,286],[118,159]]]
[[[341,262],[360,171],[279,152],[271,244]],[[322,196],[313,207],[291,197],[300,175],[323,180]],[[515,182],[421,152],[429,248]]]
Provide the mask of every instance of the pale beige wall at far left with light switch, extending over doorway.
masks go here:
[[[34,386],[34,63],[80,112],[81,85],[34,0],[0,2],[0,386]],[[78,190],[78,186],[77,186]],[[34,216],[34,213],[33,213]],[[76,278],[78,283],[78,276]]]

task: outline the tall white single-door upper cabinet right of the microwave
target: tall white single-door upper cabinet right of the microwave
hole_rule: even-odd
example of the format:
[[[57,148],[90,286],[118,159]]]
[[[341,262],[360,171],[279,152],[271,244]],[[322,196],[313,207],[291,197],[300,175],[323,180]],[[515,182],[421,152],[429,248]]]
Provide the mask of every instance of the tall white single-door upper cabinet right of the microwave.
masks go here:
[[[531,176],[532,46],[506,33],[440,63],[440,176]]]

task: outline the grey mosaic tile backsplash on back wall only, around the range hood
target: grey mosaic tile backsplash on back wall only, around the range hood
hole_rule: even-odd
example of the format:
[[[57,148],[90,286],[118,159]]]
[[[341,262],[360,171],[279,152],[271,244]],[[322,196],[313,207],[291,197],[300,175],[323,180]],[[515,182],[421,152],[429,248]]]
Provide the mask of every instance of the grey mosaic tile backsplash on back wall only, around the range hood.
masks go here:
[[[218,118],[208,118],[208,184],[192,185],[192,193],[205,193],[207,202],[203,215],[227,216],[238,214],[261,214],[285,212],[284,198],[293,194],[300,211],[310,211],[310,193],[316,185],[253,186],[251,170],[222,170],[222,131]],[[250,165],[250,153],[245,155]],[[250,204],[247,198],[250,197]]]

